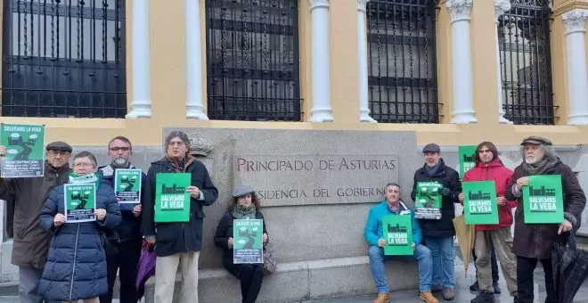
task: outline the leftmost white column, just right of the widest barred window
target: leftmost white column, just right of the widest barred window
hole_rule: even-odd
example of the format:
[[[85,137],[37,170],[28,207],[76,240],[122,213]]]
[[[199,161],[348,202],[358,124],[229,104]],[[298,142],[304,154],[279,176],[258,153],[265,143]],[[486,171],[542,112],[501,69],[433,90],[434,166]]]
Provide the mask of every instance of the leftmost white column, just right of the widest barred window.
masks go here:
[[[127,118],[151,117],[149,0],[133,0],[133,100]]]

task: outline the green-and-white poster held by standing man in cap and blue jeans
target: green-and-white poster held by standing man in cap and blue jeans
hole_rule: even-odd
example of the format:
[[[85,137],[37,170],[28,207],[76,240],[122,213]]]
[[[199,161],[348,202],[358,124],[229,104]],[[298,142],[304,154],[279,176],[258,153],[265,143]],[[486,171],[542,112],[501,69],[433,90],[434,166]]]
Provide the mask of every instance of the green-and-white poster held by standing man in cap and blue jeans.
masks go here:
[[[414,217],[438,220],[441,218],[441,195],[439,189],[443,184],[437,182],[417,182],[414,201]]]

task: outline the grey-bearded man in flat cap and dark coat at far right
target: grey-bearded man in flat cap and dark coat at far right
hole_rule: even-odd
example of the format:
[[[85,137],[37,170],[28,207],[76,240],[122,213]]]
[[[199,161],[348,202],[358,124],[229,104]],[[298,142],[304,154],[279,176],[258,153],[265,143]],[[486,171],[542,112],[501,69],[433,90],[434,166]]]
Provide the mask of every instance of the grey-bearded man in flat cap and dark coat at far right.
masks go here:
[[[553,151],[549,139],[530,136],[521,143],[523,162],[514,170],[512,181],[507,186],[505,196],[509,201],[518,200],[515,213],[515,231],[512,253],[517,256],[517,286],[520,303],[532,303],[533,272],[537,260],[541,261],[545,272],[545,302],[558,302],[551,271],[551,248],[554,242],[563,242],[564,233],[577,230],[580,216],[586,205],[584,191],[576,175],[563,164]],[[526,224],[522,201],[523,186],[529,184],[528,176],[560,175],[563,191],[564,221],[555,224]]]

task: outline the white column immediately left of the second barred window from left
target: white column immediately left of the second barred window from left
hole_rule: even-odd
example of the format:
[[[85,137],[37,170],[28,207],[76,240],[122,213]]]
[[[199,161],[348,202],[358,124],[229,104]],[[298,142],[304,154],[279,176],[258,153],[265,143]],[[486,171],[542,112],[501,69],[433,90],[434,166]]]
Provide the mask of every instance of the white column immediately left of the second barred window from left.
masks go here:
[[[200,0],[185,1],[186,118],[208,120],[202,105]]]

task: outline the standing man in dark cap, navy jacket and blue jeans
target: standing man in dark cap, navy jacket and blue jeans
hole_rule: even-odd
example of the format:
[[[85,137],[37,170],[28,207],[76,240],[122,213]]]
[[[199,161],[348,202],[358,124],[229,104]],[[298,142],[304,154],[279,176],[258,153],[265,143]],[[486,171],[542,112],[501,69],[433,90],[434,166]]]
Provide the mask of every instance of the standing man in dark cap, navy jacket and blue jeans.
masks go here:
[[[455,298],[453,284],[455,209],[453,203],[459,203],[460,177],[455,169],[445,166],[439,145],[429,143],[422,149],[422,153],[425,157],[425,165],[414,173],[411,198],[412,201],[416,201],[417,185],[421,182],[435,182],[439,186],[437,194],[441,195],[441,217],[421,218],[419,224],[425,245],[433,255],[433,289],[431,291],[443,291],[443,299],[452,300]]]

